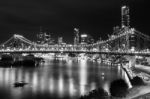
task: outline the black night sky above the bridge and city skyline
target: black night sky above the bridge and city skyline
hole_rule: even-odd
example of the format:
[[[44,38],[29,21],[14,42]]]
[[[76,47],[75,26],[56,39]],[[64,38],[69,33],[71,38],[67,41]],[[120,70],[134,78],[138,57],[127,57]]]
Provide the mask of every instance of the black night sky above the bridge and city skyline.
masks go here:
[[[120,25],[123,0],[1,0],[0,42],[14,33],[30,40],[43,30],[73,42],[73,29],[106,39]],[[126,1],[126,0],[124,0]],[[129,0],[131,26],[150,33],[149,0]]]

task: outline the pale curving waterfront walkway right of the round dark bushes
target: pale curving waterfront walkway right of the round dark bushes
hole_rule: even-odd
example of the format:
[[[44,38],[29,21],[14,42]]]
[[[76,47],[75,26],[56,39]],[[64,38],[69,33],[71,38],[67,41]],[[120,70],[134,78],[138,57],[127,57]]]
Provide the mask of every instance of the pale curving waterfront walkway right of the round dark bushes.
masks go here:
[[[135,69],[141,72],[146,85],[131,88],[125,99],[150,99],[150,66],[135,65]]]

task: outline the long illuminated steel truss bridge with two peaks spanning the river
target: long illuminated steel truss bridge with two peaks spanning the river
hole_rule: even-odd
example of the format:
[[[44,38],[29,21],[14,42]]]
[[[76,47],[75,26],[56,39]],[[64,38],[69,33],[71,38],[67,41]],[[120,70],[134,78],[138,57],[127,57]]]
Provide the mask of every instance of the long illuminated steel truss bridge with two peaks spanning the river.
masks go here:
[[[150,56],[150,37],[134,28],[122,28],[119,33],[107,40],[94,44],[48,45],[37,44],[14,34],[0,45],[0,53],[87,53],[110,55],[142,55]]]

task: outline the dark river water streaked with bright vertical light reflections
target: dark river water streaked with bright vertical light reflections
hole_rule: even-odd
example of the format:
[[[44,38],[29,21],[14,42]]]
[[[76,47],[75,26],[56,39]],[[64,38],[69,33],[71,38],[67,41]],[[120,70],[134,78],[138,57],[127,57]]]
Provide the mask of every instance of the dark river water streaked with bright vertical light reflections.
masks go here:
[[[110,83],[126,79],[119,66],[98,62],[46,60],[36,68],[0,67],[0,99],[78,99],[98,87],[109,92]],[[28,83],[14,87],[17,81]]]

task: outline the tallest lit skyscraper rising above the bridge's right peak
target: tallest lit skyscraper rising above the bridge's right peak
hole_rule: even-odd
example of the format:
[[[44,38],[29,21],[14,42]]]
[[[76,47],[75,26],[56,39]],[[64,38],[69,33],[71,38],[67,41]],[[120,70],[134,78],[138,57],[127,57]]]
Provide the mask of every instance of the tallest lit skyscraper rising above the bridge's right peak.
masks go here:
[[[121,27],[130,27],[129,7],[127,5],[121,7]]]

